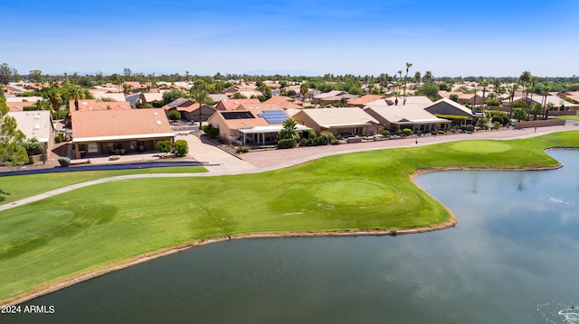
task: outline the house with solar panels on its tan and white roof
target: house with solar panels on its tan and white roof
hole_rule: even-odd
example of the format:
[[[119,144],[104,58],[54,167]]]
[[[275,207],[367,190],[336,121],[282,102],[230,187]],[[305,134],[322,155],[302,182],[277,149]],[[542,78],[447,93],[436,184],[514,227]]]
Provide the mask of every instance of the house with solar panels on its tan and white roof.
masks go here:
[[[217,110],[207,123],[219,128],[219,137],[228,143],[274,144],[279,140],[278,133],[283,121],[289,116],[283,109],[262,110],[251,107],[248,110]],[[298,132],[311,128],[298,125]]]

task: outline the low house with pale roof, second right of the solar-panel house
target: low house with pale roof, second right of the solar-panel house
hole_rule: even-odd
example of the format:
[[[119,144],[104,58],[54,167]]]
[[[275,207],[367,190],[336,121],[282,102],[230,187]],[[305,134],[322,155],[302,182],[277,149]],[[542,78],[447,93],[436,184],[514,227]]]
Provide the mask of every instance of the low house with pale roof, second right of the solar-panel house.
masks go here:
[[[384,129],[392,129],[393,125],[398,125],[401,130],[410,128],[414,133],[418,131],[429,133],[433,130],[447,129],[451,125],[450,120],[432,115],[423,105],[394,106],[381,99],[368,103],[364,111],[384,125]]]

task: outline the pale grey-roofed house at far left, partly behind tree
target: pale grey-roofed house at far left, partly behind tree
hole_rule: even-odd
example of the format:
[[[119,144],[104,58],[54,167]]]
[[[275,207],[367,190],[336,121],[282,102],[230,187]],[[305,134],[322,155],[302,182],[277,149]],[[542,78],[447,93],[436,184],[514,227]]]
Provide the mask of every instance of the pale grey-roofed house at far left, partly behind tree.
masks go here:
[[[43,143],[43,154],[52,151],[54,145],[54,125],[50,110],[17,111],[9,112],[8,116],[14,117],[16,125],[27,139],[34,137]],[[44,158],[46,155],[44,155]],[[42,159],[42,158],[41,158]],[[45,160],[44,160],[45,161]]]

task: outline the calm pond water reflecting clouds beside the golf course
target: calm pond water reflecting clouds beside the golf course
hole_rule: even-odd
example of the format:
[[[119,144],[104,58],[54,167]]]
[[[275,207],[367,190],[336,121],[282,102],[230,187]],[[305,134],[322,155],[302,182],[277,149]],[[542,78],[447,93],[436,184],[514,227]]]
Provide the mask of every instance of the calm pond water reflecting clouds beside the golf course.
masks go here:
[[[565,167],[418,177],[458,217],[451,229],[206,245],[23,304],[52,315],[0,321],[579,322],[579,152],[550,154]]]

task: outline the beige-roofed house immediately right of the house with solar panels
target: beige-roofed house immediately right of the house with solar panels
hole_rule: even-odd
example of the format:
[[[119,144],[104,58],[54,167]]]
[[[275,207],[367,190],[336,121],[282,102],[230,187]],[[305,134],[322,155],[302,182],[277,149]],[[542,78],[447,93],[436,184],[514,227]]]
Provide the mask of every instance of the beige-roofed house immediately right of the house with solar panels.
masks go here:
[[[378,133],[380,124],[357,106],[302,109],[292,118],[299,125],[306,125],[316,133],[329,131],[336,136],[374,135]]]

